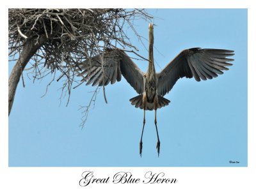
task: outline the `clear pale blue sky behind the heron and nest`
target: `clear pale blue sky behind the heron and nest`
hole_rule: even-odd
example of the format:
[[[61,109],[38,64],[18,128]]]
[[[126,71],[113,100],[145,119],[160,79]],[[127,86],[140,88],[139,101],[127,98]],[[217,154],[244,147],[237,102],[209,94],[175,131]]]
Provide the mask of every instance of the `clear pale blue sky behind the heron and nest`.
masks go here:
[[[156,151],[154,112],[146,112],[143,154],[139,142],[143,110],[129,99],[136,91],[122,78],[102,91],[83,129],[79,105],[87,105],[94,87],[72,91],[60,105],[61,82],[35,82],[26,75],[18,85],[9,117],[9,166],[247,166],[247,10],[148,10],[155,18],[154,58],[160,71],[181,50],[192,47],[235,50],[234,66],[212,80],[181,79],[164,96],[171,101],[157,112],[161,140]],[[148,22],[134,27],[148,47]],[[147,49],[127,29],[140,54]],[[135,61],[141,70],[147,62]],[[159,66],[158,66],[159,65]],[[9,73],[13,63],[9,64]],[[239,161],[230,164],[229,161]]]

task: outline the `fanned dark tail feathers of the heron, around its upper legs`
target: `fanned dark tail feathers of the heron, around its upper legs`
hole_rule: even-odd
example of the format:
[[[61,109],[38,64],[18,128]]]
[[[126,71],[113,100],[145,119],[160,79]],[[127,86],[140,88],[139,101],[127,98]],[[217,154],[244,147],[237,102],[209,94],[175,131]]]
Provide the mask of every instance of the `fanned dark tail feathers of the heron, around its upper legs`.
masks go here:
[[[138,96],[131,98],[131,104],[135,105],[136,108],[140,107],[141,109],[143,109],[143,94],[139,94]],[[167,100],[166,98],[163,98],[162,96],[158,96],[158,108],[162,108],[166,105],[169,105],[170,101]],[[148,103],[146,110],[153,110],[154,109],[154,105],[150,105],[151,103]]]

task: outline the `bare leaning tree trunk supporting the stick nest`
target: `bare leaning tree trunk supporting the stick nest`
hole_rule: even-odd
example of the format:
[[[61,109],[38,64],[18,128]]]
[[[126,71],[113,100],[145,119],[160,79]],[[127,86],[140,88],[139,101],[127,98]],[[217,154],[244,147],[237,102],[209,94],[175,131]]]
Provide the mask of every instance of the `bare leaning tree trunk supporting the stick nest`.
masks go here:
[[[28,64],[31,57],[35,54],[36,50],[42,46],[44,43],[44,38],[39,38],[38,41],[36,40],[26,40],[24,43],[24,48],[19,55],[19,59],[17,60],[17,63],[12,69],[12,73],[9,77],[9,93],[8,93],[8,103],[9,103],[9,115],[12,110],[13,100],[15,96],[15,92],[17,89],[17,85],[20,80],[20,75],[22,71],[24,70],[25,66]]]

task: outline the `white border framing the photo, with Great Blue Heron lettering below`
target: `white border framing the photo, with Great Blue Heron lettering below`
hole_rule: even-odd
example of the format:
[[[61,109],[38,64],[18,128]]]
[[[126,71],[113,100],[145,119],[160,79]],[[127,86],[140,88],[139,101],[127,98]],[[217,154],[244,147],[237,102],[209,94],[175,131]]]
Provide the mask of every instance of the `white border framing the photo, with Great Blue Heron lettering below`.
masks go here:
[[[3,4],[5,3],[5,4]],[[255,191],[255,26],[256,8],[253,1],[8,1],[1,2],[1,123],[0,127],[0,189],[1,191]],[[8,8],[248,8],[248,167],[247,168],[8,168],[8,105],[7,105],[7,26]],[[237,29],[239,30],[239,29]],[[237,77],[239,78],[239,77]],[[3,86],[2,86],[3,85]],[[132,172],[143,177],[148,170],[164,172],[177,178],[177,184],[92,184],[81,188],[82,172],[92,170],[95,177],[113,176],[116,172]],[[151,190],[150,190],[151,191]]]

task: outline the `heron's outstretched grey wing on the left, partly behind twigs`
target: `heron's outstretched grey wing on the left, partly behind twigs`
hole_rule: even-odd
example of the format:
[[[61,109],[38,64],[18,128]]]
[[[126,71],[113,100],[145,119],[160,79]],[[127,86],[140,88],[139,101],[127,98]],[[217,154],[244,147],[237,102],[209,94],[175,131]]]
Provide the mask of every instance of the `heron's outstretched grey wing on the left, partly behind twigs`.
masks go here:
[[[143,72],[136,66],[131,58],[119,49],[111,49],[104,52],[103,55],[96,55],[92,59],[83,61],[79,67],[86,85],[108,85],[120,81],[122,75],[127,82],[141,94],[143,92]]]

